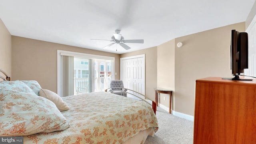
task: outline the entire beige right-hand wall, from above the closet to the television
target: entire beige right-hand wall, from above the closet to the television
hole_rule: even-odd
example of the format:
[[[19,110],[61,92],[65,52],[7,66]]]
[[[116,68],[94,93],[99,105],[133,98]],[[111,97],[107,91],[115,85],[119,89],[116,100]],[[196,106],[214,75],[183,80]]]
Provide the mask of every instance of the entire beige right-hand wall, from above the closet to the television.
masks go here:
[[[146,95],[154,99],[156,86],[171,89],[172,110],[194,116],[196,79],[208,76],[232,77],[232,29],[244,32],[245,22],[175,38],[154,48],[121,54],[120,58],[145,54]],[[176,46],[178,42],[183,43],[181,48]],[[167,94],[160,94],[160,104],[168,108],[169,100]]]

